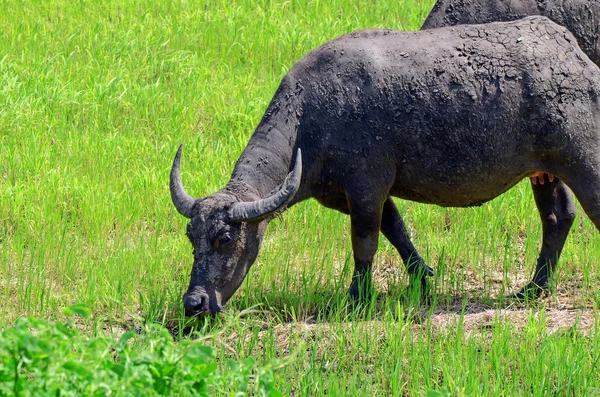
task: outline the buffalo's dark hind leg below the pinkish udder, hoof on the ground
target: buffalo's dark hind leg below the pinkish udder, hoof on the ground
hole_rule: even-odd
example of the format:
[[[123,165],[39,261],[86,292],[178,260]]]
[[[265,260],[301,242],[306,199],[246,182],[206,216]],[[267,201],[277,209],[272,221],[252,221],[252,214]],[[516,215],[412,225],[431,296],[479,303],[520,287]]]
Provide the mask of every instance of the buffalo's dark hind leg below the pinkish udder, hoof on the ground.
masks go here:
[[[562,181],[554,178],[551,182],[540,184],[532,179],[531,187],[542,220],[542,249],[533,280],[513,294],[512,297],[517,299],[535,299],[548,288],[575,220],[575,201],[571,191]]]

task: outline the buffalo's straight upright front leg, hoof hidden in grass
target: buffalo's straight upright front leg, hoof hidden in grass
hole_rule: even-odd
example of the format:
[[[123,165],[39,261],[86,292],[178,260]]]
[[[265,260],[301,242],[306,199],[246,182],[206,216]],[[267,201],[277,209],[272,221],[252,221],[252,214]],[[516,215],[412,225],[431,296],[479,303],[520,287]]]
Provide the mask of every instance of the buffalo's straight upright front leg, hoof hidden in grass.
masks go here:
[[[350,198],[348,201],[354,254],[350,296],[357,300],[368,300],[373,292],[371,270],[377,252],[382,205]]]

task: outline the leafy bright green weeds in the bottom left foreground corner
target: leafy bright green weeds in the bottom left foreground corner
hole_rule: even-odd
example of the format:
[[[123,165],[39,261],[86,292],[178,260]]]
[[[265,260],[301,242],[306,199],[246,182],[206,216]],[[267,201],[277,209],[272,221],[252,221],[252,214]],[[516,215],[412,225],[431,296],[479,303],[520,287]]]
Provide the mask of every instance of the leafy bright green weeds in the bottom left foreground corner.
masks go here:
[[[157,324],[115,339],[23,317],[0,333],[1,396],[282,396],[273,382],[272,367],[251,357],[219,365],[211,347],[175,343]]]

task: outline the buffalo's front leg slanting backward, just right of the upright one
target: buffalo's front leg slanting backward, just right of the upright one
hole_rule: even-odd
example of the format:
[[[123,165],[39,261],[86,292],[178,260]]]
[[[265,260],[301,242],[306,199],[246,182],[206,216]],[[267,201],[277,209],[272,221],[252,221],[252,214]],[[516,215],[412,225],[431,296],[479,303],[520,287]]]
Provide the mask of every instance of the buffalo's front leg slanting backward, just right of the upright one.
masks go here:
[[[427,266],[410,241],[406,226],[391,197],[383,205],[381,232],[400,254],[411,280],[420,284],[422,294],[427,294],[427,276],[433,276],[433,269]]]

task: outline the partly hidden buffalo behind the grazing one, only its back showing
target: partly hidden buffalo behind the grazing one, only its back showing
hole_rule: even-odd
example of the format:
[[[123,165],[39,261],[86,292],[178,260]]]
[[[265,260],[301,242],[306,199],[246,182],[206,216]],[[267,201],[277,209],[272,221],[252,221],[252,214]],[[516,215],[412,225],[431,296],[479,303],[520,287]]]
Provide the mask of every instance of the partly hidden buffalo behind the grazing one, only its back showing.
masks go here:
[[[543,15],[573,33],[579,46],[600,65],[598,0],[438,0],[421,29],[514,21]]]

